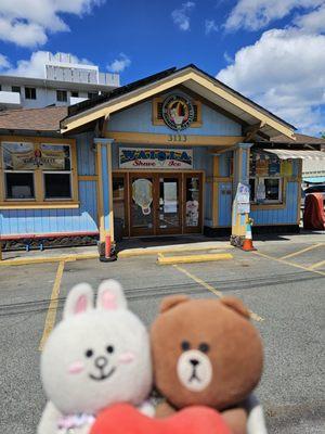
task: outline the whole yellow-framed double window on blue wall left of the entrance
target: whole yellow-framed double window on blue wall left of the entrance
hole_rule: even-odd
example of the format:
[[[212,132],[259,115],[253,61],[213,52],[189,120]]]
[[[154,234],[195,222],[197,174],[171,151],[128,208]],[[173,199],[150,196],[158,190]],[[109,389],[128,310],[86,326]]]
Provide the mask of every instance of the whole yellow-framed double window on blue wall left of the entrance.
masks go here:
[[[52,143],[50,140],[41,143],[40,138],[35,138],[35,143],[6,141],[0,143],[0,202],[46,204],[77,200],[73,141],[69,144]]]

